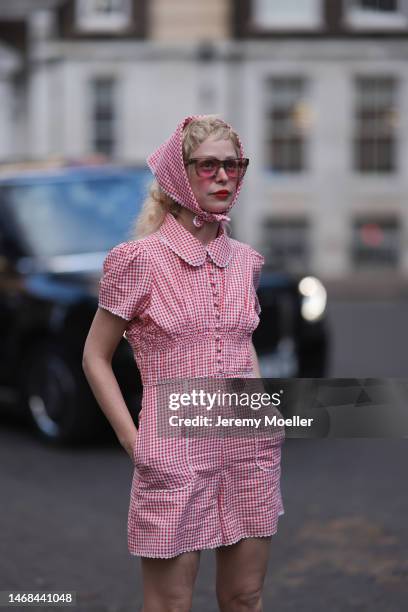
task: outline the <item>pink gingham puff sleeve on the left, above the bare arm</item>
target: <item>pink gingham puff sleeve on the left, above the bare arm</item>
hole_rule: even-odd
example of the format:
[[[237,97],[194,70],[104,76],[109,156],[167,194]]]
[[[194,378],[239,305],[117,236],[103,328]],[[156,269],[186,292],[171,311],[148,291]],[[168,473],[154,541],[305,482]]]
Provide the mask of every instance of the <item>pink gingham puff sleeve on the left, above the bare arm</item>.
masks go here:
[[[103,262],[98,306],[130,321],[140,316],[150,299],[149,258],[137,241],[114,246]]]

